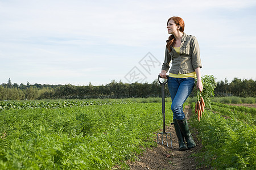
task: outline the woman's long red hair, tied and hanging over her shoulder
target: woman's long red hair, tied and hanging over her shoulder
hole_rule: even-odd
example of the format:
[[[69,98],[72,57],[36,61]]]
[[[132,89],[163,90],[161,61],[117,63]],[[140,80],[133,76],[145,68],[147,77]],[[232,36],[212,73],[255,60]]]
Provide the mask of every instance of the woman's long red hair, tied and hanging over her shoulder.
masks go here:
[[[182,18],[180,18],[179,16],[172,16],[171,18],[168,19],[167,25],[170,20],[174,20],[175,24],[180,26],[180,29],[179,29],[180,32],[183,33],[184,28],[185,28],[184,20]],[[176,41],[176,39],[175,39],[174,35],[171,35],[169,37],[169,39],[166,41],[167,42],[166,46],[170,52],[171,52],[171,46],[174,46],[175,41]]]

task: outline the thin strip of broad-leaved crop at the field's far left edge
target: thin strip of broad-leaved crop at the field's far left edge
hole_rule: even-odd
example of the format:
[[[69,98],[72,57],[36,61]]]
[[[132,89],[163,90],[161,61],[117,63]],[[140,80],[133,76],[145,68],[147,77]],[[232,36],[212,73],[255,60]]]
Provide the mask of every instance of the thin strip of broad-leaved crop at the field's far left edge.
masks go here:
[[[86,107],[88,105],[105,105],[105,104],[129,104],[131,101],[2,101],[0,102],[1,109],[34,109],[46,108],[56,109],[65,107]]]

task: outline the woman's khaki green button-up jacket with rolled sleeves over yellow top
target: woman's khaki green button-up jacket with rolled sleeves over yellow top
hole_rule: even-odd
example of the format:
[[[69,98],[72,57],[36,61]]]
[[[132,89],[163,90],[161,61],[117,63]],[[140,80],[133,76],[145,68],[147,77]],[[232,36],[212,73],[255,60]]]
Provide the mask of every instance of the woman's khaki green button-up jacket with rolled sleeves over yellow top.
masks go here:
[[[169,52],[166,47],[162,70],[168,72],[171,60],[172,66],[170,73],[173,74],[192,73],[197,67],[202,67],[199,44],[196,37],[183,33],[181,37],[180,54],[177,54],[172,46],[171,49],[171,52]]]

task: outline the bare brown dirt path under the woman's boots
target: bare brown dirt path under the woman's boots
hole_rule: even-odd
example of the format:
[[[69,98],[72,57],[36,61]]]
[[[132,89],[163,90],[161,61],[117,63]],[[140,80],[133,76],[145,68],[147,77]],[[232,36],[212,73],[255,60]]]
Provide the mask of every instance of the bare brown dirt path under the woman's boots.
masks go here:
[[[189,117],[191,117],[192,109],[189,106],[185,107],[184,113],[187,114],[187,120],[189,124]],[[195,157],[191,154],[200,151],[201,142],[198,141],[196,134],[197,131],[190,127],[191,134],[197,144],[195,148],[186,151],[179,151],[179,143],[175,133],[174,125],[166,125],[166,131],[172,134],[172,145],[173,149],[164,145],[162,142],[157,147],[147,148],[143,155],[139,156],[139,160],[135,162],[128,162],[131,170],[134,169],[207,169],[207,168],[196,168]],[[161,139],[160,139],[161,141]],[[168,142],[170,145],[170,142]],[[209,169],[209,168],[208,168]]]

